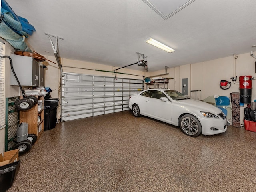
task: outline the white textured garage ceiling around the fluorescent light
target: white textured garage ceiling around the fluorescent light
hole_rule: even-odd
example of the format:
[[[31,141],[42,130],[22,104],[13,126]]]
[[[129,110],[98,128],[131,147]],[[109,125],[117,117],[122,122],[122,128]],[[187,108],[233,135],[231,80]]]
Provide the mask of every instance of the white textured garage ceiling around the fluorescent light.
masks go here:
[[[177,2],[158,0],[158,6],[170,1]],[[62,58],[119,68],[135,63],[140,52],[148,72],[256,51],[256,0],[195,0],[166,20],[142,0],[6,2],[36,28],[28,43],[43,55],[54,56],[45,33],[64,38],[58,40]],[[175,52],[147,44],[149,36]]]

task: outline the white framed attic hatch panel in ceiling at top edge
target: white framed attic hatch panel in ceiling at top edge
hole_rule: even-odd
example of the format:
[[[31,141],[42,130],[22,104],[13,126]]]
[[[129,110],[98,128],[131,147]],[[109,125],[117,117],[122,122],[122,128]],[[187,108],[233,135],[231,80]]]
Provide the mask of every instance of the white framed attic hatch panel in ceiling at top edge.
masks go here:
[[[150,8],[159,14],[164,20],[170,18],[194,0],[143,0]]]

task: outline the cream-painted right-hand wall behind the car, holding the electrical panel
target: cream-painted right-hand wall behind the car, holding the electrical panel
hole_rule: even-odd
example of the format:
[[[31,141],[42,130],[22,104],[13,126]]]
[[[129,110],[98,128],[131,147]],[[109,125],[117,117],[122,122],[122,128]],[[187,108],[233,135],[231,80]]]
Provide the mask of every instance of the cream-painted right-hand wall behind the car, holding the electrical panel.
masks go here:
[[[255,52],[254,52],[255,55]],[[239,92],[239,85],[232,82],[231,77],[251,75],[255,77],[255,58],[250,53],[237,55],[234,59],[233,55],[226,58],[188,64],[180,66],[180,86],[182,78],[189,78],[189,89],[202,90],[201,98],[204,100],[211,95],[228,96],[231,92]],[[172,70],[172,69],[170,69]],[[220,80],[231,82],[231,88],[223,90],[220,88]],[[176,81],[178,79],[176,78]],[[252,100],[256,99],[256,80],[252,80]],[[176,87],[176,90],[178,88]]]

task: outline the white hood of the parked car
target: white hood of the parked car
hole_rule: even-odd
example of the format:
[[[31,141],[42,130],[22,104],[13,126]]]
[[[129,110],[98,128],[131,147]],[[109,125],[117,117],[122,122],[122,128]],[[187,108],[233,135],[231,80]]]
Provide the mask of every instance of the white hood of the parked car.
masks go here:
[[[178,100],[177,102],[182,106],[183,105],[191,106],[192,108],[197,108],[198,110],[204,111],[204,112],[210,112],[214,114],[220,114],[222,112],[220,108],[199,100],[185,99],[185,100]]]

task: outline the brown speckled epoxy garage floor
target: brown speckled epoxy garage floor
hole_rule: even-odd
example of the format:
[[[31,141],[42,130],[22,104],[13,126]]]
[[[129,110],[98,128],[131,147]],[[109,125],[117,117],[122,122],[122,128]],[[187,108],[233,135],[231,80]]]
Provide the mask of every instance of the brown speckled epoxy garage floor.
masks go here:
[[[20,160],[8,192],[256,191],[256,132],[192,138],[130,111],[62,122]]]

